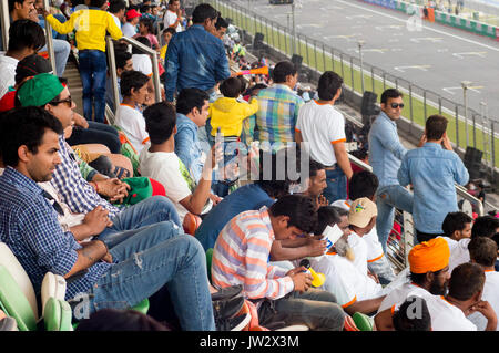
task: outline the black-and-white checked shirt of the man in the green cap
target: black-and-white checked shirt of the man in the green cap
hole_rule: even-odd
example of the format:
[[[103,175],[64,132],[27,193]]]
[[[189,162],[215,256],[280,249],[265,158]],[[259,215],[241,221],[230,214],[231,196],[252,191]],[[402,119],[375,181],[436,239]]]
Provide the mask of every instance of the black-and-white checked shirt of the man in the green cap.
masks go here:
[[[95,189],[82,177],[80,167],[64,136],[59,137],[61,164],[53,173],[52,185],[61,200],[74,214],[88,214],[99,205],[109,210],[109,217],[114,217],[120,208],[111,205],[99,196]]]

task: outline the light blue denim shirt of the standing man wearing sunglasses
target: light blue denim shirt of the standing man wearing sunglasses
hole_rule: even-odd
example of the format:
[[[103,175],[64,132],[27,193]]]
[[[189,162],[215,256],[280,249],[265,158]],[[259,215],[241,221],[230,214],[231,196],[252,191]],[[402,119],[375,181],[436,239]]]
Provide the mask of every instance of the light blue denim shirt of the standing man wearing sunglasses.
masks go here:
[[[368,136],[369,164],[379,179],[379,187],[398,185],[397,172],[407,149],[400,144],[397,124],[381,112]]]

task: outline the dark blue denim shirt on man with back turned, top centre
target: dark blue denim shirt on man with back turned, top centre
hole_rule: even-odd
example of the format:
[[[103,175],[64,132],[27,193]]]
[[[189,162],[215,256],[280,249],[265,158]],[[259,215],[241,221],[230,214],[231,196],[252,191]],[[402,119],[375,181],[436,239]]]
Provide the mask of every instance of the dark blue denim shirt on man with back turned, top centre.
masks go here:
[[[166,51],[165,94],[169,102],[175,92],[196,87],[211,90],[216,82],[228,79],[228,60],[222,41],[203,25],[193,24],[173,35]]]

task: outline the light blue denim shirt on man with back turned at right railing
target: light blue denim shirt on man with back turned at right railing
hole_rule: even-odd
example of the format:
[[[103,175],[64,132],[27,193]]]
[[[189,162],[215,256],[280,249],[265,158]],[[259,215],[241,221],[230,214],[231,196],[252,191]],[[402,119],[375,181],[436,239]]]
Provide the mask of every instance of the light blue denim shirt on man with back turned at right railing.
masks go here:
[[[469,174],[459,156],[426,143],[407,152],[398,170],[401,186],[413,184],[413,218],[417,230],[442,233],[441,224],[448,212],[458,211],[455,183],[465,185]]]

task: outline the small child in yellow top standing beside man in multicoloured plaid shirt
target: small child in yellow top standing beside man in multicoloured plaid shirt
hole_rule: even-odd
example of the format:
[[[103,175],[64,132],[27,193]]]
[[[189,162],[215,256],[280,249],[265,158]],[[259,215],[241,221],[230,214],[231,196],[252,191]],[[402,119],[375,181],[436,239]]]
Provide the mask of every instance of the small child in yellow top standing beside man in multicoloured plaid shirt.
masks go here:
[[[220,136],[224,142],[224,165],[233,163],[237,156],[237,146],[241,142],[243,121],[254,115],[258,111],[258,101],[253,97],[249,103],[238,100],[245,90],[245,84],[240,77],[230,77],[220,85],[220,97],[210,105],[208,115],[211,117],[212,131],[208,139],[213,144],[215,136]],[[215,195],[224,197],[228,195],[228,189],[234,180],[228,180],[223,176],[223,180],[215,181],[213,190]]]

